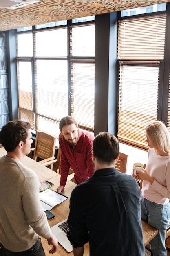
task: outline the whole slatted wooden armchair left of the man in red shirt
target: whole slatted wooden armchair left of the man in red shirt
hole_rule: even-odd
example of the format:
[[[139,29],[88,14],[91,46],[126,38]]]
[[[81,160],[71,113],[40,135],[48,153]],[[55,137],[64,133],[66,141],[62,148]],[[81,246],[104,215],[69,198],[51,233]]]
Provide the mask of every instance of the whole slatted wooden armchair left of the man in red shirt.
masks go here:
[[[31,148],[34,151],[33,159],[35,161],[38,158],[42,159],[38,161],[44,166],[50,166],[53,170],[53,164],[57,162],[55,159],[55,141],[56,138],[44,132],[38,131],[36,133],[35,148]]]

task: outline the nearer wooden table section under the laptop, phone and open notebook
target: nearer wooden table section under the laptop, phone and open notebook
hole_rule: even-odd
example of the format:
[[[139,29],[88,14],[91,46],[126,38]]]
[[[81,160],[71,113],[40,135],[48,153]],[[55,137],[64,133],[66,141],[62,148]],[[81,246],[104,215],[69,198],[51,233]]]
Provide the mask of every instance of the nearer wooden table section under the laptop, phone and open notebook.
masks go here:
[[[49,179],[49,181],[54,183],[53,190],[57,189],[57,187],[60,185],[60,175],[53,177]],[[68,196],[68,199],[61,204],[58,204],[55,206],[51,212],[55,215],[55,218],[53,220],[48,220],[50,227],[53,227],[58,222],[68,218],[69,213],[69,200],[71,191],[75,188],[76,184],[74,182],[71,182],[70,180],[67,180],[65,190],[62,192],[63,195]],[[154,227],[150,226],[148,223],[142,221],[142,227],[143,227],[143,238],[144,238],[144,246],[146,246],[152,238],[154,238],[158,234],[158,230]],[[51,249],[51,246],[48,245],[47,240],[41,237],[42,245],[44,247],[44,251],[46,256],[51,256],[49,254],[49,250]],[[73,256],[73,252],[66,252],[63,247],[58,244],[58,250],[53,254],[53,256],[66,256],[70,255]],[[89,243],[84,245],[84,256],[89,256]]]

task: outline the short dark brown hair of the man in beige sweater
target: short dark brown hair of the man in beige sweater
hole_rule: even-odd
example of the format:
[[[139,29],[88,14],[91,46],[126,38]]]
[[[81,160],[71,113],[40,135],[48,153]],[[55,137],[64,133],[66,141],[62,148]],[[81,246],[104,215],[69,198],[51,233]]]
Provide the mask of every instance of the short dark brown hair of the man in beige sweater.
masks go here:
[[[26,143],[30,128],[31,124],[29,122],[9,121],[0,131],[0,143],[7,152],[13,152],[20,141]]]

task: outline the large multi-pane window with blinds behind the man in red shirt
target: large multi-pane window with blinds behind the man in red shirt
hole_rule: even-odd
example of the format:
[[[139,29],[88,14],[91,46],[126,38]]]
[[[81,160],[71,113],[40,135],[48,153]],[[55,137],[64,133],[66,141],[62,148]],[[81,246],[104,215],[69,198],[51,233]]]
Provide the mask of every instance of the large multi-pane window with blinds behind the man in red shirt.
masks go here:
[[[19,118],[57,136],[60,119],[71,115],[94,131],[94,57],[94,23],[18,32]]]

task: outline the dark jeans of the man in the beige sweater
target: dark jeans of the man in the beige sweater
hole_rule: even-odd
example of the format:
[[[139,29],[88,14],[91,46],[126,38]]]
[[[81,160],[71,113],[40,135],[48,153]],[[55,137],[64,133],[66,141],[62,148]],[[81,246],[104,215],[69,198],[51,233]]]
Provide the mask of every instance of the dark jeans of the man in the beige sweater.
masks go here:
[[[1,252],[0,256],[45,256],[44,249],[42,247],[42,243],[40,238],[37,240],[37,242],[28,250],[23,252],[11,252],[3,247],[3,245],[0,244]]]

